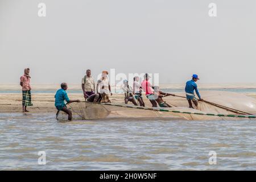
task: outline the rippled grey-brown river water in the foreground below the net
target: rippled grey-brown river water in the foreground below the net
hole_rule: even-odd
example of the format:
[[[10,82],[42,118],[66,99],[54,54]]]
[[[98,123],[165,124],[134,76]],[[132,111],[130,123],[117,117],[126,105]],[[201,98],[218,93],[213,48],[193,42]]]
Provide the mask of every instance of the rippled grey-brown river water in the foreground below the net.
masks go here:
[[[255,131],[253,120],[57,122],[53,114],[0,114],[0,169],[256,170]]]

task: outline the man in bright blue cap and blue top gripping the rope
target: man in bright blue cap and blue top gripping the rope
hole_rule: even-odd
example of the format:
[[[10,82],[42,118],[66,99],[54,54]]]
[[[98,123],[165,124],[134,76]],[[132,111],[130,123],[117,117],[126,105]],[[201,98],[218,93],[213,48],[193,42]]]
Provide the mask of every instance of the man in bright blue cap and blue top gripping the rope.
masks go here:
[[[197,85],[196,85],[197,80],[199,80],[199,77],[197,75],[193,75],[192,80],[187,81],[185,86],[185,92],[186,92],[189,108],[193,108],[192,101],[196,107],[198,105],[194,90],[196,91],[199,101],[203,101],[197,89]]]

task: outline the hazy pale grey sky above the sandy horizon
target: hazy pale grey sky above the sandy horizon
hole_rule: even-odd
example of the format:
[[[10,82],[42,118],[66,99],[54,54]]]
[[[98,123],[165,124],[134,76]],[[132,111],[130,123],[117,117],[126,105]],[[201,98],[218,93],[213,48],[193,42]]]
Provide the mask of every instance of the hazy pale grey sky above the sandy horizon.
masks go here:
[[[38,4],[46,3],[46,17]],[[216,3],[217,17],[208,15]],[[96,77],[159,73],[180,83],[256,82],[255,0],[0,0],[0,83],[78,83]]]

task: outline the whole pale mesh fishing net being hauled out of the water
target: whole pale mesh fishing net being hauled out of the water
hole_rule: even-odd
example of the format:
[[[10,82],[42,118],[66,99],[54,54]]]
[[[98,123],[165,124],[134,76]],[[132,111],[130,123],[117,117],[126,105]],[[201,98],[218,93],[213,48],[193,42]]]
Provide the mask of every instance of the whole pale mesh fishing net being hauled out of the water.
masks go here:
[[[178,94],[177,94],[178,95]],[[182,96],[182,94],[179,94]],[[253,98],[243,96],[242,94],[229,92],[201,92],[205,100],[212,101],[226,107],[232,107],[256,113],[256,101]],[[127,104],[93,104],[90,102],[71,103],[68,105],[72,109],[73,114],[79,116],[81,119],[147,119],[147,120],[241,120],[249,118],[238,117],[223,117],[214,114],[234,114],[234,112],[222,109],[220,107],[199,102],[197,109],[188,108],[188,102],[180,97],[164,97],[168,103],[176,107],[170,108],[154,108],[151,107],[136,107]],[[236,113],[235,113],[236,114]]]

